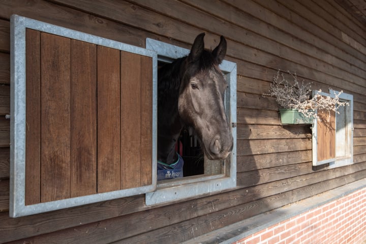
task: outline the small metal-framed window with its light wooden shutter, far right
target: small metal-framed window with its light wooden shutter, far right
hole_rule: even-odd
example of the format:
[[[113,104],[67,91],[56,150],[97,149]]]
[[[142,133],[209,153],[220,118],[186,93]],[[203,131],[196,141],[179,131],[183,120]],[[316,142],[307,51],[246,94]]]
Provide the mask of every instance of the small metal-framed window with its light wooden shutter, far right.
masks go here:
[[[314,90],[313,95],[318,91]],[[329,90],[329,94],[338,94]],[[339,167],[353,162],[353,96],[342,93],[341,102],[349,105],[341,106],[339,113],[333,111],[317,111],[320,120],[314,120],[313,127],[313,166],[329,164],[330,167]]]

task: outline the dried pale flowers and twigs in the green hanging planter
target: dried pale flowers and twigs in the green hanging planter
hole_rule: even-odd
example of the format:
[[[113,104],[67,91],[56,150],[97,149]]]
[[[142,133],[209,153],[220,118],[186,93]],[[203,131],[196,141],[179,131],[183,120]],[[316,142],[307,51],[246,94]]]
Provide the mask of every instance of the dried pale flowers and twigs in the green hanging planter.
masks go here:
[[[277,75],[273,76],[273,81],[269,88],[269,94],[263,94],[266,96],[276,97],[277,103],[286,109],[296,109],[304,116],[308,118],[320,117],[317,114],[317,110],[326,110],[338,112],[339,106],[348,105],[347,102],[341,102],[339,96],[343,93],[333,92],[333,96],[321,95],[322,91],[318,92],[310,98],[311,83],[304,83],[304,80],[298,80],[296,73],[287,71],[288,75],[292,77],[293,82],[289,82],[285,77],[285,74],[278,70]]]

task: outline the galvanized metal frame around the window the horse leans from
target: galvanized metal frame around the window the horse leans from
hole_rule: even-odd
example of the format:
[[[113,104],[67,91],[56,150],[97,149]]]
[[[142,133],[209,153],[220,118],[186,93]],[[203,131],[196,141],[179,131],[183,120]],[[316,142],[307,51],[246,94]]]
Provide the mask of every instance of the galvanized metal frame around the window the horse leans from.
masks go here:
[[[176,58],[188,55],[190,52],[189,49],[149,38],[146,39],[146,48],[157,52],[158,60],[169,63]],[[236,187],[236,63],[223,60],[220,69],[227,74],[229,84],[226,91],[226,108],[234,139],[234,146],[229,160],[230,165],[226,165],[225,172],[218,175],[190,176],[158,182],[155,192],[145,194],[146,205],[187,199],[203,194],[214,194]]]

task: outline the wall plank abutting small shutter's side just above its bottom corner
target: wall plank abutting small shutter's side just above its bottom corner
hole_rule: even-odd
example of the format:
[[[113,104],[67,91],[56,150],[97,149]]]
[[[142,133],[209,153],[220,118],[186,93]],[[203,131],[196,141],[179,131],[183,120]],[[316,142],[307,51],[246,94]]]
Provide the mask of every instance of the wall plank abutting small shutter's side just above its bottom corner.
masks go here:
[[[300,164],[305,162],[311,162],[311,160],[311,150],[238,156],[236,158],[236,171],[239,173],[251,170],[285,166],[290,164]]]

